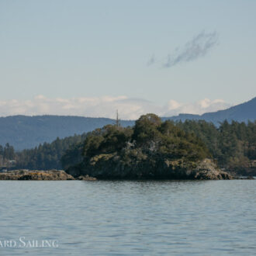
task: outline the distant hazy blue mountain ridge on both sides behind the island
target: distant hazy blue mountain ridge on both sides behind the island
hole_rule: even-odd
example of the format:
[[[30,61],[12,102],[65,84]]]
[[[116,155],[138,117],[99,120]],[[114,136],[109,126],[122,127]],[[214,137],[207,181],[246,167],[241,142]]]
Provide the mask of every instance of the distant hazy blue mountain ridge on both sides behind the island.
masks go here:
[[[228,121],[247,122],[256,120],[256,97],[248,102],[217,112],[202,115],[180,114],[163,117],[174,121],[185,119],[204,119],[215,123]],[[16,150],[36,147],[51,142],[57,137],[64,138],[75,133],[81,134],[95,130],[116,120],[82,116],[7,116],[0,117],[0,144],[11,144]],[[122,126],[133,126],[133,120],[121,120]]]

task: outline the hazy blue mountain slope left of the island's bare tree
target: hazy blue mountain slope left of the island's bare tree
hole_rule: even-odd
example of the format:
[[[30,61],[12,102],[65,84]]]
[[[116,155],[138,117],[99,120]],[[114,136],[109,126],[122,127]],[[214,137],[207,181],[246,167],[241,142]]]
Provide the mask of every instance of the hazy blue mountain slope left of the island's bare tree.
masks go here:
[[[106,124],[115,123],[108,118],[81,116],[7,116],[0,117],[0,144],[11,144],[16,150],[36,147],[64,138],[85,133]],[[133,125],[132,121],[121,121],[122,126]]]

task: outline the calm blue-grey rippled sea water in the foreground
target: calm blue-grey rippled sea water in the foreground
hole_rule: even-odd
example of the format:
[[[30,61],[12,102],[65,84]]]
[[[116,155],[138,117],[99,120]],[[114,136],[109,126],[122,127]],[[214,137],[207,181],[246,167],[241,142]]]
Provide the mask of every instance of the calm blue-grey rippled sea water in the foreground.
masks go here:
[[[0,202],[1,255],[256,252],[254,180],[1,181]]]

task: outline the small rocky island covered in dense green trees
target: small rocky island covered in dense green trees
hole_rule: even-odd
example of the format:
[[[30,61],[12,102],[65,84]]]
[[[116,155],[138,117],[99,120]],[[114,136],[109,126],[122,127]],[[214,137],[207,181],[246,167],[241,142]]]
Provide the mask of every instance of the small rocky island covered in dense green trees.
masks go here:
[[[85,139],[83,161],[66,166],[74,178],[99,179],[232,179],[214,164],[194,133],[185,133],[154,114],[133,127],[107,125]],[[68,159],[71,155],[67,156]]]

